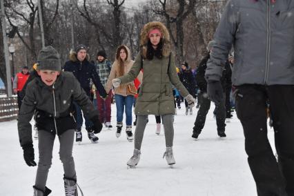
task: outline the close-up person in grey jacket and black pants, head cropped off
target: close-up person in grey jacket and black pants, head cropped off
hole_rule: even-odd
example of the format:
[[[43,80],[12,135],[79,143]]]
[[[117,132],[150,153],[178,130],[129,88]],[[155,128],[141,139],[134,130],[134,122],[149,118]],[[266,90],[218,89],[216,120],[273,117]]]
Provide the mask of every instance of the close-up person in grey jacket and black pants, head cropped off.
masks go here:
[[[230,0],[207,63],[208,96],[222,99],[220,78],[232,45],[237,117],[257,194],[294,195],[294,1]],[[277,159],[267,137],[269,103]]]

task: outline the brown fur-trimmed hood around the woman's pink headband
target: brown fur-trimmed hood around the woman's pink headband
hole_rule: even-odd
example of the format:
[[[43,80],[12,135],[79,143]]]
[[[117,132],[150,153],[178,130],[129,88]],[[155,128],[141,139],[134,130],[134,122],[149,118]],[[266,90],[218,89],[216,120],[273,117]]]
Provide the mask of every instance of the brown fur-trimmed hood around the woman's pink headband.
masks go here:
[[[141,39],[140,39],[140,47],[141,47],[141,55],[146,59],[147,52],[147,43],[148,43],[148,32],[153,29],[159,29],[162,33],[162,55],[164,57],[168,57],[170,55],[170,34],[166,26],[159,21],[152,21],[146,23],[144,27],[141,29]]]

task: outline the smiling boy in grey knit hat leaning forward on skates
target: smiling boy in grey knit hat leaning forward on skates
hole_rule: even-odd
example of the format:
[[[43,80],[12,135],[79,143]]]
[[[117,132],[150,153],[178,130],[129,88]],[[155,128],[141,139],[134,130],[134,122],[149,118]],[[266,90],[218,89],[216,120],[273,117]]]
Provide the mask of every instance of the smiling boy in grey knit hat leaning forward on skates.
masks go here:
[[[81,89],[79,81],[71,73],[61,71],[59,53],[52,46],[43,48],[39,52],[37,72],[39,76],[26,88],[17,124],[23,158],[28,166],[36,166],[30,120],[37,110],[39,163],[35,186],[33,186],[34,195],[43,196],[51,192],[46,187],[46,181],[52,164],[52,150],[56,135],[60,143],[59,157],[63,164],[66,195],[77,195],[77,175],[72,158],[75,137],[72,101],[76,101],[91,119],[95,133],[99,133],[102,128],[98,112]]]

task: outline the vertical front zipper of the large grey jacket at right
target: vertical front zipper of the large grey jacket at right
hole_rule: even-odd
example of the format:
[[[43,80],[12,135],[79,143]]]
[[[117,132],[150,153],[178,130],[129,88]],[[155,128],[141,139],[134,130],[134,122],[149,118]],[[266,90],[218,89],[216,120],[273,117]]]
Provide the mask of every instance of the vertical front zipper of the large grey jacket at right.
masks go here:
[[[267,1],[267,37],[266,37],[266,72],[264,77],[264,84],[268,81],[268,69],[270,66],[270,51],[271,51],[271,0]]]

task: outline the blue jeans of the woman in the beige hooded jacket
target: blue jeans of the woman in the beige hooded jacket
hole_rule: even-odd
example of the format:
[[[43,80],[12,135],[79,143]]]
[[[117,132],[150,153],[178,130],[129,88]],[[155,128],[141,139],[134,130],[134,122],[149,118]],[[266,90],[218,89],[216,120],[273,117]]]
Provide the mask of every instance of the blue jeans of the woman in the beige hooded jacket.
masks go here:
[[[115,95],[115,104],[117,105],[117,122],[122,122],[124,117],[124,106],[126,106],[126,126],[132,126],[132,108],[134,96]]]

